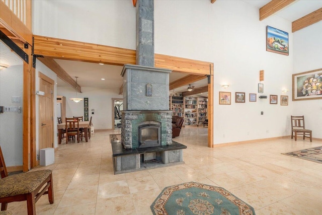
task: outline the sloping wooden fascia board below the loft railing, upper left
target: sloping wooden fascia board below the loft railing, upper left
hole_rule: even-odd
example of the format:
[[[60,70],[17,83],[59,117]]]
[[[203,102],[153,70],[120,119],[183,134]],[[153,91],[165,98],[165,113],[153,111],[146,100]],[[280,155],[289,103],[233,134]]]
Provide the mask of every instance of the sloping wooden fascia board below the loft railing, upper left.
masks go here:
[[[4,26],[17,39],[24,43],[32,44],[32,32],[25,24],[8,8],[8,6],[0,1],[0,25]]]

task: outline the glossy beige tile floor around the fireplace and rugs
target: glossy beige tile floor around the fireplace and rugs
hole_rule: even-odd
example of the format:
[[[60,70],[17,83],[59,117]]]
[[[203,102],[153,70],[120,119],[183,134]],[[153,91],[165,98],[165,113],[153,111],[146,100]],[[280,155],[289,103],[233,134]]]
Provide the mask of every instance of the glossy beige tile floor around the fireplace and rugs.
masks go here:
[[[62,144],[53,171],[55,203],[42,196],[37,214],[152,214],[150,205],[166,187],[195,181],[220,186],[252,205],[256,214],[322,214],[322,164],[281,155],[321,146],[321,141],[277,139],[207,147],[207,128],[184,128],[186,164],[114,175],[109,134]],[[8,204],[26,214],[26,202]]]

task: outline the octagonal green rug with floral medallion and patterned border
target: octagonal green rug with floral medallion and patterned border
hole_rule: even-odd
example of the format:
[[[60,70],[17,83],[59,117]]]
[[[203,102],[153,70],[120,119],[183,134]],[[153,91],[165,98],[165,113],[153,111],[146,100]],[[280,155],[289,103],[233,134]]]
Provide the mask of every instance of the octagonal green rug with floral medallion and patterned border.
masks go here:
[[[224,188],[196,182],[166,187],[151,209],[154,215],[255,214],[252,206]]]

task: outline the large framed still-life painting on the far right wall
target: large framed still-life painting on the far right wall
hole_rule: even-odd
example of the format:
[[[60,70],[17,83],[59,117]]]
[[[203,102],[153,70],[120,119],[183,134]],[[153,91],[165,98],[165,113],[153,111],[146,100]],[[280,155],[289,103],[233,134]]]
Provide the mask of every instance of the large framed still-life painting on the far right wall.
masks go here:
[[[292,75],[292,100],[322,99],[322,68]]]

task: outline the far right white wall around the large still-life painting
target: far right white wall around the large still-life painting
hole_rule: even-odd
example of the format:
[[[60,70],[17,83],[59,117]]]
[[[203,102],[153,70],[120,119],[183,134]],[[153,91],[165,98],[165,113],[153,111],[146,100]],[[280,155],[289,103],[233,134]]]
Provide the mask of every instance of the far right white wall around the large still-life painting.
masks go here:
[[[322,69],[322,22],[294,32],[294,74]],[[292,115],[304,115],[312,136],[322,138],[322,99],[293,102]]]

